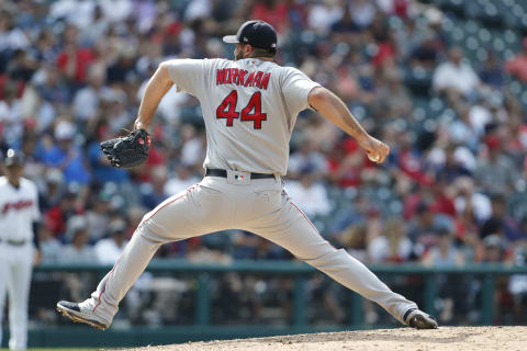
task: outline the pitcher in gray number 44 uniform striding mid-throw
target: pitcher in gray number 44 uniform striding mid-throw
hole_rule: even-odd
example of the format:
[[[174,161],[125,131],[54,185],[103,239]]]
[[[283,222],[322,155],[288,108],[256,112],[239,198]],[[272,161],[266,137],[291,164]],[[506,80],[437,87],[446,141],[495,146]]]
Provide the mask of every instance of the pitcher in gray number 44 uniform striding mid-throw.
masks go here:
[[[161,98],[175,84],[195,95],[203,110],[208,149],[205,178],[146,214],[112,271],[91,298],[59,302],[76,321],[105,329],[120,301],[160,245],[239,228],[260,235],[384,307],[403,324],[437,328],[415,303],[393,293],[362,263],[322,238],[282,189],[289,140],[300,111],[317,110],[355,137],[370,159],[383,162],[389,147],[371,137],[335,94],[300,70],[273,63],[277,34],[262,21],[246,22],[235,61],[176,59],[159,66],[142,100],[136,129],[147,129]]]

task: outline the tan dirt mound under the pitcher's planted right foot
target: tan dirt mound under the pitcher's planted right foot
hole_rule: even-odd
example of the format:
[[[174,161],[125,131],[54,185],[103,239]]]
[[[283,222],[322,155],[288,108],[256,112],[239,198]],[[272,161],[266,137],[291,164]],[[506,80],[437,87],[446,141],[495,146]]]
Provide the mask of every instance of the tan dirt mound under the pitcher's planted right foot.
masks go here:
[[[440,327],[436,330],[380,329],[259,339],[191,342],[134,351],[524,351],[527,327]]]

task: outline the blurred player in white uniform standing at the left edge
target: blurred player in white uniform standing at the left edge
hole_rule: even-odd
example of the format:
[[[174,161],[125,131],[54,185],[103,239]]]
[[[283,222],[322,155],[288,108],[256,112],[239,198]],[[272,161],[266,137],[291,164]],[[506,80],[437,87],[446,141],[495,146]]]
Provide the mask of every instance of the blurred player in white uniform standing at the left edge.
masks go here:
[[[34,224],[40,218],[36,185],[25,178],[24,158],[12,149],[3,161],[0,177],[0,321],[9,293],[11,350],[25,350],[31,273],[36,254]],[[0,330],[0,342],[2,332]]]

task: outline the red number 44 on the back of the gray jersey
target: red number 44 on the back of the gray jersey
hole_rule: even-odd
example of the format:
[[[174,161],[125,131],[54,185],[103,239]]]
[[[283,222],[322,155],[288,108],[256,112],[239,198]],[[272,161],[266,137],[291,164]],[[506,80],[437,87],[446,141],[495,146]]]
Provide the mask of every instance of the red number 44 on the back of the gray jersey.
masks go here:
[[[216,109],[216,118],[226,118],[227,127],[232,127],[234,118],[239,117],[239,112],[236,111],[237,103],[238,93],[236,90],[233,90],[223,99]],[[250,97],[249,103],[242,110],[242,117],[239,120],[243,122],[254,122],[254,128],[261,129],[261,122],[267,121],[267,113],[261,112],[261,92],[255,92],[253,97]]]

